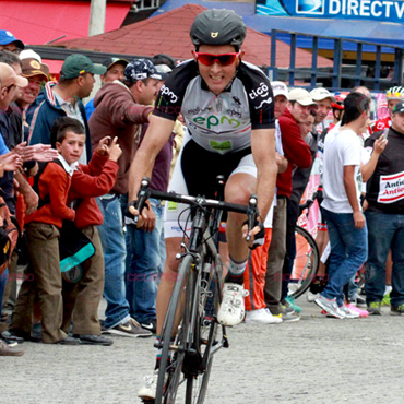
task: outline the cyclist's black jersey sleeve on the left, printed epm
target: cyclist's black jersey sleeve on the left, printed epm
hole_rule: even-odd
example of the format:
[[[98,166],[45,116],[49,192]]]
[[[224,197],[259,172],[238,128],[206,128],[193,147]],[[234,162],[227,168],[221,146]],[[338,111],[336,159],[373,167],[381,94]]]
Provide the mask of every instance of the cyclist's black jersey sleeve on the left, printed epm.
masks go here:
[[[153,115],[175,121],[181,112],[187,86],[195,75],[198,75],[198,64],[193,60],[186,61],[174,69],[159,90]]]

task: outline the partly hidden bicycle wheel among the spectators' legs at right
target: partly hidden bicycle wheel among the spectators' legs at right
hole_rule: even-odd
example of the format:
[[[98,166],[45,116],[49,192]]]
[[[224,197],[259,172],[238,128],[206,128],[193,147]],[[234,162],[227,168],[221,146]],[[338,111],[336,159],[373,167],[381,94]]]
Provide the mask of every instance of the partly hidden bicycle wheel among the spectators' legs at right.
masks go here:
[[[320,264],[319,248],[313,237],[305,228],[296,226],[296,258],[289,280],[288,296],[298,298],[316,278]]]

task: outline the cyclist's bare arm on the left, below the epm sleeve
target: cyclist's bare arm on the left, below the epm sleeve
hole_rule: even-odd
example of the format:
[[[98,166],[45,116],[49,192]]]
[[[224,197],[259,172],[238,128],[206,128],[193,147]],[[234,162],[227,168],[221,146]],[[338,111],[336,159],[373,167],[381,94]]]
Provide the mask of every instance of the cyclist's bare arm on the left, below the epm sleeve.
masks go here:
[[[129,171],[129,201],[138,199],[138,191],[143,177],[152,177],[157,154],[168,142],[175,121],[152,115],[144,139],[134,155]],[[146,213],[147,210],[143,212]],[[131,209],[131,212],[134,212]]]

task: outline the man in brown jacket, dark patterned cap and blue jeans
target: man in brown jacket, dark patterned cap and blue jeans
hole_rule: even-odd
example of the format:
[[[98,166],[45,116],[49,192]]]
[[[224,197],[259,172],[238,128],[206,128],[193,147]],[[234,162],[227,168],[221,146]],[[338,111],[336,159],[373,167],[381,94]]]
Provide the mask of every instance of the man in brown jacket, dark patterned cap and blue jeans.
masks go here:
[[[129,169],[141,138],[142,124],[148,122],[151,104],[155,100],[162,75],[146,59],[134,59],[124,69],[124,80],[106,83],[94,98],[95,111],[88,124],[93,134],[93,145],[104,136],[118,136],[122,155],[118,162],[117,181],[110,193],[97,202],[104,216],[98,227],[105,260],[104,296],[107,300],[106,332],[131,337],[151,336],[150,330],[131,318],[130,305],[126,296],[124,272],[127,246],[122,230],[121,203],[126,207]],[[168,164],[169,166],[169,164]],[[121,200],[121,201],[120,201]],[[133,284],[132,278],[132,284]],[[146,280],[146,285],[154,282]],[[154,299],[154,295],[151,296]],[[154,304],[154,301],[153,301]],[[151,308],[153,310],[153,308]],[[139,319],[145,321],[152,318]],[[153,325],[153,324],[152,324]]]

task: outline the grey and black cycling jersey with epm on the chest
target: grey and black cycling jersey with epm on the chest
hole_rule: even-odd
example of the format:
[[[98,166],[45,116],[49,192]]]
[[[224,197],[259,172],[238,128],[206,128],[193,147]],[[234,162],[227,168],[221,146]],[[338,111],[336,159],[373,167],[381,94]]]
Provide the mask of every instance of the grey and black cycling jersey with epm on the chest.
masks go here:
[[[275,128],[271,83],[243,61],[219,95],[207,88],[194,60],[180,64],[162,86],[153,114],[175,120],[179,112],[192,140],[219,154],[249,147],[252,129]]]

